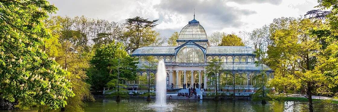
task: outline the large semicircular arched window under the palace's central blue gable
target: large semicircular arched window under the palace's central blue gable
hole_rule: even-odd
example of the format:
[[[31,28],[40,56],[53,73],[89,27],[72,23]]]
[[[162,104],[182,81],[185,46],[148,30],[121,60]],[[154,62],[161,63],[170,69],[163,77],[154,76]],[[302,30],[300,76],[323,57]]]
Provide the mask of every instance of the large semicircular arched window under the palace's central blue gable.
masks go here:
[[[196,45],[186,45],[180,48],[176,55],[178,63],[201,63],[204,62],[204,53]]]

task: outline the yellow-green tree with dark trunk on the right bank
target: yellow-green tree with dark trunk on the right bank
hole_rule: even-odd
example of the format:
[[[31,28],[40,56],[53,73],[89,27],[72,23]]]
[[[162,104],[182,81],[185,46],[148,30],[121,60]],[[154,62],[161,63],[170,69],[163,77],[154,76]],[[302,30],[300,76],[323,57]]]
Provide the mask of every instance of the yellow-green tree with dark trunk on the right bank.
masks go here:
[[[271,84],[278,88],[286,86],[286,89],[307,98],[309,111],[314,111],[315,102],[312,95],[326,91],[327,88],[323,86],[330,86],[326,77],[314,70],[321,45],[318,37],[311,36],[309,31],[320,25],[320,21],[310,19],[293,21],[287,29],[273,33],[272,40],[275,45],[268,46],[267,51],[269,65],[288,72],[285,74],[287,78],[275,77]]]

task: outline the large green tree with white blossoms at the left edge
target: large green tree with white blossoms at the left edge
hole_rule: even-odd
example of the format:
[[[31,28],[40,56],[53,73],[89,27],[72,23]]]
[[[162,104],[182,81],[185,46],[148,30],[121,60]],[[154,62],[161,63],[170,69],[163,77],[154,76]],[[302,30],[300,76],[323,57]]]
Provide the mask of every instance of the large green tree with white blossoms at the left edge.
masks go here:
[[[73,97],[69,72],[39,46],[51,34],[43,20],[56,7],[45,0],[0,1],[0,98],[16,107],[57,109]]]

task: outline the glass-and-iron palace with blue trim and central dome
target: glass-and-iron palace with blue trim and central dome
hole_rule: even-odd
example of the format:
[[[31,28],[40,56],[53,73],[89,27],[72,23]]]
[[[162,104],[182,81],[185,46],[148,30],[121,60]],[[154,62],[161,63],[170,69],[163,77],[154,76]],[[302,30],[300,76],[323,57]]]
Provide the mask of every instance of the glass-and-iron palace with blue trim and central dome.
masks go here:
[[[136,49],[131,56],[139,58],[139,75],[155,74],[141,71],[148,64],[146,57],[152,56],[155,60],[164,60],[167,70],[167,85],[173,83],[174,88],[182,88],[184,83],[204,83],[208,88],[211,78],[206,75],[206,67],[212,59],[222,62],[221,77],[228,77],[229,73],[239,74],[243,81],[236,82],[238,87],[253,89],[257,83],[256,74],[264,71],[269,78],[273,78],[272,70],[266,65],[256,66],[257,61],[254,49],[248,46],[210,46],[204,28],[195,18],[180,31],[176,40],[178,46],[146,46]],[[220,78],[223,79],[223,78]],[[251,79],[251,80],[250,80]],[[139,84],[138,81],[128,82]],[[220,80],[221,85],[226,85],[226,80]],[[209,83],[210,84],[210,83]],[[226,88],[227,86],[221,86]]]

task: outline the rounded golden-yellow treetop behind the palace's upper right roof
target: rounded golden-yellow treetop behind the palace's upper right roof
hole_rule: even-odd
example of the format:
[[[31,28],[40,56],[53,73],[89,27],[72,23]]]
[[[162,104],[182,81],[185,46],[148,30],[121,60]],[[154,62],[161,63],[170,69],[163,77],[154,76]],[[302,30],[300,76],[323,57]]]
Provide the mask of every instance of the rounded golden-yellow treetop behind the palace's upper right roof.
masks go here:
[[[244,43],[237,35],[228,34],[222,37],[222,41],[218,46],[244,46]]]

